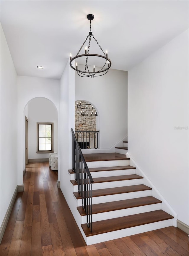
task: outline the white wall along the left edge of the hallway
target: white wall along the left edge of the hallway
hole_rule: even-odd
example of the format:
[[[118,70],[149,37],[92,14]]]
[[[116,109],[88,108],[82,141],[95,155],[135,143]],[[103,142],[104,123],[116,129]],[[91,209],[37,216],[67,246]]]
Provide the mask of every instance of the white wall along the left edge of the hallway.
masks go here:
[[[17,73],[1,27],[0,225],[17,187]]]

